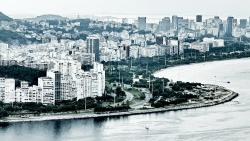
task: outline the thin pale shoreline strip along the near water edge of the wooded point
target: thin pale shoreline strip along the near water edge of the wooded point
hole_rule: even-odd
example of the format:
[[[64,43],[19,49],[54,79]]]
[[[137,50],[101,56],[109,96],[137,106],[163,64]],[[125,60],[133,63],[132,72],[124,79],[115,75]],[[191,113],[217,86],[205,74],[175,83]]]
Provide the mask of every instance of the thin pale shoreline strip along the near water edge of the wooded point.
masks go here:
[[[216,85],[213,85],[216,86]],[[182,111],[188,109],[197,109],[203,107],[211,107],[219,104],[223,104],[229,101],[232,101],[234,98],[238,97],[238,93],[228,90],[224,87],[218,86],[224,90],[227,90],[229,94],[225,95],[223,98],[215,99],[208,102],[200,102],[196,104],[179,104],[168,106],[164,108],[152,108],[152,109],[143,109],[143,110],[131,110],[128,112],[115,112],[115,113],[79,113],[79,114],[65,114],[65,115],[47,115],[47,116],[32,116],[29,118],[21,117],[8,117],[0,120],[0,124],[8,123],[20,123],[20,122],[37,122],[37,121],[56,121],[56,120],[72,120],[72,119],[91,119],[91,118],[107,118],[107,117],[120,117],[120,116],[130,116],[130,115],[140,115],[140,114],[152,114],[152,113],[163,113],[169,111]]]

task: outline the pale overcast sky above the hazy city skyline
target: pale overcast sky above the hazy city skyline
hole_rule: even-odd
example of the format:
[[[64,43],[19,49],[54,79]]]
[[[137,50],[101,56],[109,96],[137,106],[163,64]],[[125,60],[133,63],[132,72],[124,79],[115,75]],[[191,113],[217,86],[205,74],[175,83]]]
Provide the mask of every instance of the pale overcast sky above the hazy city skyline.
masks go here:
[[[250,16],[249,0],[0,0],[0,11],[14,17],[41,14]]]

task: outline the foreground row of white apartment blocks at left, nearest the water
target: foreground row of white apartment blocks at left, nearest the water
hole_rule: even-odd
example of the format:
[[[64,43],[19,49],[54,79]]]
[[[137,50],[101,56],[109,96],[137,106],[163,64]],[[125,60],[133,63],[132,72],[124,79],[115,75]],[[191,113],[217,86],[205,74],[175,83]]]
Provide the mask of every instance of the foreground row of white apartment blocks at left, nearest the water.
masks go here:
[[[104,89],[102,64],[95,62],[93,69],[83,71],[77,61],[59,60],[46,77],[38,78],[38,86],[21,81],[20,87],[15,87],[15,79],[0,78],[0,101],[55,104],[55,101],[102,96]]]

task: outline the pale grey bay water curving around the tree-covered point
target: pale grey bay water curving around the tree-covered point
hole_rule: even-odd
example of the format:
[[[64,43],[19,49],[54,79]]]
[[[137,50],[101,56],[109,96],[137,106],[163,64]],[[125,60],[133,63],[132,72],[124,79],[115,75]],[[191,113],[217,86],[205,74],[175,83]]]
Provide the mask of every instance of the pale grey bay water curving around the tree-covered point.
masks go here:
[[[0,128],[0,140],[247,140],[250,138],[249,64],[250,58],[185,65],[156,73],[175,81],[217,84],[240,94],[223,105],[120,118],[15,123]]]

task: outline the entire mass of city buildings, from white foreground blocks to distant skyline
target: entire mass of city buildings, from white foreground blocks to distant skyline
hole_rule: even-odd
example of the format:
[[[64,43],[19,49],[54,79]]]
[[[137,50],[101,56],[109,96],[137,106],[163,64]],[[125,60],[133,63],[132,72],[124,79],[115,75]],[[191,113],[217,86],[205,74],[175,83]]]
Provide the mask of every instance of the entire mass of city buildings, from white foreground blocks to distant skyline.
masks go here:
[[[26,45],[0,43],[0,65],[47,70],[47,76],[39,78],[37,86],[22,81],[20,88],[16,88],[14,79],[0,78],[0,100],[54,104],[101,96],[105,71],[100,62],[181,55],[186,50],[209,52],[212,48],[224,48],[224,40],[250,37],[250,22],[234,17],[222,20],[218,16],[204,19],[197,15],[188,19],[174,15],[159,23],[148,23],[146,17],[138,17],[135,23],[128,21],[123,18],[121,22],[91,19],[0,22],[0,29],[41,41]],[[37,32],[37,28],[42,32]],[[82,65],[93,68],[84,71]]]

